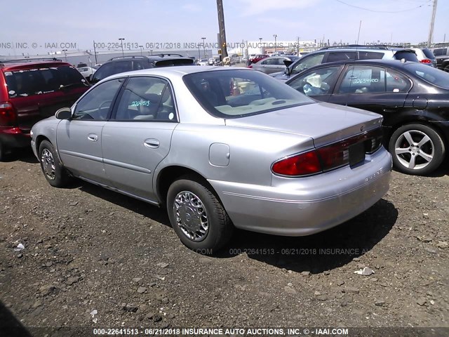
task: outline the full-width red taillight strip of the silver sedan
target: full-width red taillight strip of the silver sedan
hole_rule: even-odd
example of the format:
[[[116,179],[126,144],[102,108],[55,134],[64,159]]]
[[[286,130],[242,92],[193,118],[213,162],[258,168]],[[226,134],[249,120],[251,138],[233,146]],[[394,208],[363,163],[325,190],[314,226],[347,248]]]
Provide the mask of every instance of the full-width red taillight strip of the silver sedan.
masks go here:
[[[337,169],[349,164],[349,147],[360,143],[363,143],[366,154],[376,152],[382,145],[382,129],[375,128],[316,150],[281,159],[272,165],[272,172],[281,176],[297,177]]]

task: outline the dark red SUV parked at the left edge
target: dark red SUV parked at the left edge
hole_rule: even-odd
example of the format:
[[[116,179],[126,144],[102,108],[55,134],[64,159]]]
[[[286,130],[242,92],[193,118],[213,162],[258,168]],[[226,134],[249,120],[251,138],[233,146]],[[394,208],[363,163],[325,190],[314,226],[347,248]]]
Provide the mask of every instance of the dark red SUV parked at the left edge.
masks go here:
[[[66,62],[0,61],[0,160],[29,147],[29,131],[36,121],[72,105],[88,83]]]

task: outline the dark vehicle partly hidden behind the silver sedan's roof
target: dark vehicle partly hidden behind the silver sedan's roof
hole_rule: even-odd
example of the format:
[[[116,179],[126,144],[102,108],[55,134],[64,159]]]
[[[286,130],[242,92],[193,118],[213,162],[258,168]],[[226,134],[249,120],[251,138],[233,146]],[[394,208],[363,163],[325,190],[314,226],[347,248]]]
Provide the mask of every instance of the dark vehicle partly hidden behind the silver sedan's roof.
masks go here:
[[[120,72],[149,69],[154,67],[172,67],[178,65],[194,65],[192,58],[184,58],[179,54],[159,54],[152,56],[125,56],[111,58],[104,62],[91,77],[93,84]]]

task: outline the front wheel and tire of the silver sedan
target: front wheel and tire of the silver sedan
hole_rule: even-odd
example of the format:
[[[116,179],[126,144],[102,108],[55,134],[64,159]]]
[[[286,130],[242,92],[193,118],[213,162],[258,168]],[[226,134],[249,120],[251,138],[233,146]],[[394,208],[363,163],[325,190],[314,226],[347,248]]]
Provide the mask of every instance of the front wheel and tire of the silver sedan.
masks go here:
[[[39,145],[39,162],[43,176],[53,187],[65,187],[70,182],[69,173],[62,166],[55,147],[48,140],[42,140]]]

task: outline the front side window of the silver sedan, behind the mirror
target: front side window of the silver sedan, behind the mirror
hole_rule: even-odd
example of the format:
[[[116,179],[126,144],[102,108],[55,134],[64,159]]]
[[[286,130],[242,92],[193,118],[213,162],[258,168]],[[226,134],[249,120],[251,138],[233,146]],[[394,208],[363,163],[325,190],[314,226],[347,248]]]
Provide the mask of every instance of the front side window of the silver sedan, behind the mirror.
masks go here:
[[[109,108],[122,84],[123,79],[112,79],[95,86],[76,103],[72,119],[106,120]]]

